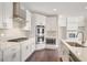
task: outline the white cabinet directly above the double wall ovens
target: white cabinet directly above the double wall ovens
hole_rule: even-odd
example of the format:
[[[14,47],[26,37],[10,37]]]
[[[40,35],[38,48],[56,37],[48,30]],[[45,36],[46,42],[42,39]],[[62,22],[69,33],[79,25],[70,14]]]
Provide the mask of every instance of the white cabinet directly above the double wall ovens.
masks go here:
[[[35,17],[35,24],[36,25],[45,25],[45,21],[46,21],[45,15],[35,13],[34,17]]]

